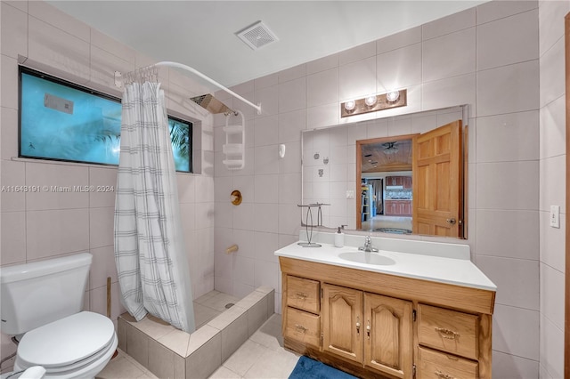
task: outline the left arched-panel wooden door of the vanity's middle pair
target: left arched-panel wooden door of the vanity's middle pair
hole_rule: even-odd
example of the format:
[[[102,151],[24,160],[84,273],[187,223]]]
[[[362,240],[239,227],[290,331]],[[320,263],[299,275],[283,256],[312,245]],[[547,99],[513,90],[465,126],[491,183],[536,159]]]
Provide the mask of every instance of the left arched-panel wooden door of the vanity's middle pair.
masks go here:
[[[362,363],[362,291],[323,284],[322,348]]]

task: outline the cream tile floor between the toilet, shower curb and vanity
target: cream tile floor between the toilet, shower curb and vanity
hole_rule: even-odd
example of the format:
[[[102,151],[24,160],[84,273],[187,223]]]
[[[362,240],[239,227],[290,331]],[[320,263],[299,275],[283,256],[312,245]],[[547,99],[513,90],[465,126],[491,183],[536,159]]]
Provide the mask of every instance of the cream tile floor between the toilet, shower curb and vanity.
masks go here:
[[[216,294],[214,294],[216,296]],[[221,300],[220,296],[218,300]],[[208,299],[199,299],[205,301]],[[209,304],[216,302],[210,298]],[[195,302],[196,304],[196,302]],[[204,305],[204,302],[201,302]],[[218,304],[219,305],[219,304]],[[205,307],[207,305],[204,305]],[[287,378],[297,364],[298,355],[283,349],[281,337],[281,315],[273,314],[256,333],[241,345],[210,379],[224,378]],[[101,379],[155,379],[150,371],[142,367],[123,351],[112,359],[97,378]],[[162,379],[162,378],[160,378]]]

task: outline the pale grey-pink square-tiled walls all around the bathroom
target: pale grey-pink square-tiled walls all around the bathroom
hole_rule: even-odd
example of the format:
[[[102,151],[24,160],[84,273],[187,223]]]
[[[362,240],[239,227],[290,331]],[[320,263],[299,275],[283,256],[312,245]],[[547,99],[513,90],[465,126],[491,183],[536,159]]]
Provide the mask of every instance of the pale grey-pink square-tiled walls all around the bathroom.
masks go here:
[[[560,182],[566,154],[561,145],[564,88],[557,77],[563,72],[560,38],[568,8],[566,0],[493,1],[237,85],[236,92],[262,102],[264,109],[256,115],[244,104],[233,104],[248,119],[246,168],[237,173],[221,164],[224,117],[208,117],[180,101],[188,90],[178,84],[188,79],[163,74],[169,108],[202,125],[202,174],[179,175],[187,245],[199,246],[192,259],[206,262],[201,272],[192,268],[194,291],[202,293],[199,283],[211,285],[215,262],[216,289],[243,295],[256,286],[272,286],[280,310],[280,272],[273,251],[297,239],[300,132],[346,122],[339,119],[340,101],[406,87],[409,105],[402,111],[472,105],[468,244],[474,262],[499,286],[493,376],[538,377],[540,371],[542,377],[558,377],[563,367],[559,293],[565,238],[548,227],[548,207],[565,209]],[[37,69],[112,94],[117,93],[110,73],[151,60],[42,2],[3,1],[0,17],[2,184],[47,178],[57,185],[112,185],[115,173],[110,168],[12,159],[17,156],[18,59],[28,57]],[[374,125],[381,122],[371,117],[384,115],[350,121]],[[287,145],[283,159],[279,143]],[[228,201],[232,189],[244,195],[241,206]],[[0,205],[1,263],[89,249],[97,255],[85,306],[104,312],[104,278],[115,278],[109,195],[3,193]],[[240,250],[226,255],[225,248],[233,243]],[[10,352],[3,336],[2,354]]]

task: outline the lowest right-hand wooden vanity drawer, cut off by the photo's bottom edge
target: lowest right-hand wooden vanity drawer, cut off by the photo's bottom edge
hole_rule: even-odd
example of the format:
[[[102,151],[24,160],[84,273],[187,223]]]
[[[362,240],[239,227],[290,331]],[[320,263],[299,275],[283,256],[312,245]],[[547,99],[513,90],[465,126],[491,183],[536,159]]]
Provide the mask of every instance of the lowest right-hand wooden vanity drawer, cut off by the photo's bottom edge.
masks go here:
[[[476,379],[477,362],[419,348],[418,379]]]

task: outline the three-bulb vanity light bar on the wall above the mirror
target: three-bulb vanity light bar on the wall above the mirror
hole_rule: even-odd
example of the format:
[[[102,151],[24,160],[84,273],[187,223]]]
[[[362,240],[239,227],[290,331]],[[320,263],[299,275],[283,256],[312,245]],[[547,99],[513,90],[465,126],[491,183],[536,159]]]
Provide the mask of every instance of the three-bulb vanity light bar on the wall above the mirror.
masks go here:
[[[388,93],[367,96],[358,100],[340,103],[340,117],[362,115],[384,109],[404,107],[408,105],[408,91],[395,90]]]

